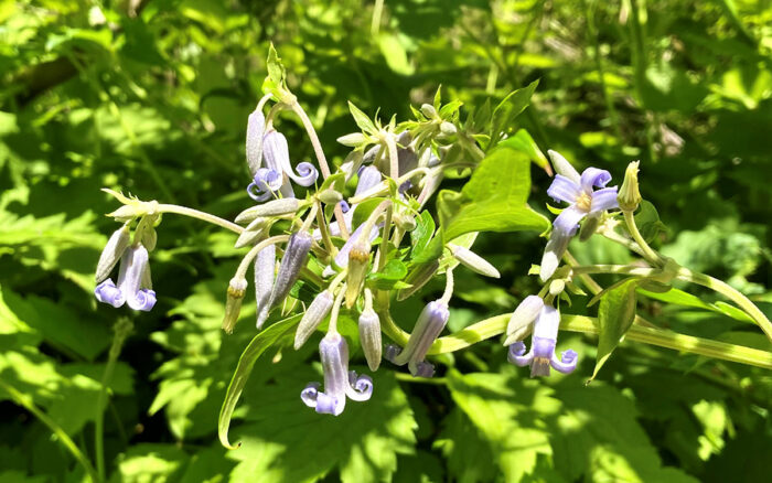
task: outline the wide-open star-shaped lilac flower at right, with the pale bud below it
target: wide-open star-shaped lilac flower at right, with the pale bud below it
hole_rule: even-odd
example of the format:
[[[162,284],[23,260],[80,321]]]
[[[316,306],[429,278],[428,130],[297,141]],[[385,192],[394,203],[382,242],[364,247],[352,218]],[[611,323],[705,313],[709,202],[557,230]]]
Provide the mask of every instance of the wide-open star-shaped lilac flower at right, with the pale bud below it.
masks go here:
[[[568,243],[577,234],[579,222],[586,216],[600,216],[605,210],[618,206],[616,186],[605,187],[611,181],[608,171],[588,168],[579,175],[560,154],[555,151],[549,151],[549,154],[558,174],[547,189],[547,194],[556,202],[565,202],[569,206],[553,222],[553,233],[542,258],[539,277],[543,281],[555,273]],[[600,190],[593,191],[593,187]]]

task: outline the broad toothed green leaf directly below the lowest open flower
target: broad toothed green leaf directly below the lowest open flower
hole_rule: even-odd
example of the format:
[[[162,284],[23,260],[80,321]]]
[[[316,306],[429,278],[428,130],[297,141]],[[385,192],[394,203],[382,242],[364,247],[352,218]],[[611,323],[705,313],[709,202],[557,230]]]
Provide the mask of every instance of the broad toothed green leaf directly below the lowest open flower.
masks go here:
[[[230,453],[240,461],[233,481],[255,475],[260,483],[315,481],[335,468],[340,476],[332,479],[343,482],[390,481],[397,455],[414,452],[417,426],[394,373],[373,374],[372,398],[347,400],[337,417],[317,414],[300,400],[303,387],[321,377],[303,364],[245,393],[251,422],[238,429],[243,446]]]

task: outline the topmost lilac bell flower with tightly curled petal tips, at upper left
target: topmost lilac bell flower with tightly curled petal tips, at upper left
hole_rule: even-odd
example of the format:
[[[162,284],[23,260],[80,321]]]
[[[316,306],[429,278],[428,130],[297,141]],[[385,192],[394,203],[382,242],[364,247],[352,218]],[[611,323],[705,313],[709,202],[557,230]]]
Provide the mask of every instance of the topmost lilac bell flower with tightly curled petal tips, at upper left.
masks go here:
[[[262,202],[277,192],[283,197],[294,197],[292,181],[301,186],[310,186],[317,181],[319,172],[309,162],[299,163],[298,172],[293,171],[287,138],[281,132],[274,129],[266,132],[261,148],[266,165],[255,171],[253,182],[247,186],[247,194],[253,200]],[[247,152],[250,152],[250,148],[247,148]]]

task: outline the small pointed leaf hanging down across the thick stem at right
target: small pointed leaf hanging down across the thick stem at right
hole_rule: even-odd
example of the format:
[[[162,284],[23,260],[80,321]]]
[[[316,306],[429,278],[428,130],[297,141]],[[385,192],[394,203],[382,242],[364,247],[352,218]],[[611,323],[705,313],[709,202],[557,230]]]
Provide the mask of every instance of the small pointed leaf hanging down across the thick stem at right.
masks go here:
[[[616,348],[624,334],[635,320],[635,288],[637,279],[630,279],[619,287],[609,290],[601,299],[598,308],[598,356],[596,368],[592,371],[594,379],[598,372]]]

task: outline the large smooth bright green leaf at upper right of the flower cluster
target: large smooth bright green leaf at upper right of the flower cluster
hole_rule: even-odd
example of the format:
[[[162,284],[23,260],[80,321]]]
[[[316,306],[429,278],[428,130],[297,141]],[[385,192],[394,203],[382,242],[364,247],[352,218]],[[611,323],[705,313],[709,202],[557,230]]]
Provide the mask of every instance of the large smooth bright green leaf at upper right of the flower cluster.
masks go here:
[[[443,190],[438,210],[444,239],[469,232],[544,232],[549,221],[527,204],[530,161],[512,147],[485,157],[461,193]]]

